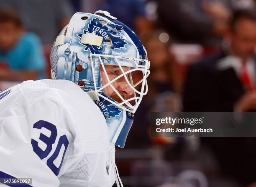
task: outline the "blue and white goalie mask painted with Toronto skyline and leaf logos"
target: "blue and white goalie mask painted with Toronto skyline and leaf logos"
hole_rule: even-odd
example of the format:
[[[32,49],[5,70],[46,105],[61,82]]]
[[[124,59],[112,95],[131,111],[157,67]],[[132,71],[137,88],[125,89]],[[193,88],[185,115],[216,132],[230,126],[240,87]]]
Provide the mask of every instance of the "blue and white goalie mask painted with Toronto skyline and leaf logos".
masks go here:
[[[148,87],[149,61],[138,36],[108,12],[77,12],[51,49],[51,76],[88,92],[105,116],[109,140],[124,147]]]

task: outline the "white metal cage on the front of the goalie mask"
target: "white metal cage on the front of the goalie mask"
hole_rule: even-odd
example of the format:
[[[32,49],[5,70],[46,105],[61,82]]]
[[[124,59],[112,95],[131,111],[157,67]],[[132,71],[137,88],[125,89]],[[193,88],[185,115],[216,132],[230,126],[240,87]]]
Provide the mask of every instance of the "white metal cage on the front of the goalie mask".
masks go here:
[[[94,81],[95,91],[99,97],[102,97],[113,105],[128,111],[130,115],[134,114],[142,100],[142,97],[148,92],[146,78],[150,73],[148,70],[149,61],[137,58],[98,54],[90,54],[90,60],[93,69],[95,69],[93,60],[100,62],[100,86],[97,85],[97,81]],[[113,73],[112,71],[118,72],[116,73],[117,75],[111,76],[110,74]],[[136,76],[136,74],[137,77],[140,78],[139,80],[134,80],[134,76]],[[99,73],[93,72],[92,75],[94,80],[98,80],[97,76],[99,76]],[[102,83],[102,76],[105,77],[105,84]],[[122,80],[120,83],[121,86],[125,85],[132,91],[132,94],[130,94],[128,98],[122,95],[114,85],[115,82],[119,82],[120,80]],[[108,90],[112,90],[116,95],[115,98],[118,98],[115,102],[102,95],[102,92],[105,92],[104,90],[107,87],[109,87]],[[107,93],[105,92],[105,94]]]

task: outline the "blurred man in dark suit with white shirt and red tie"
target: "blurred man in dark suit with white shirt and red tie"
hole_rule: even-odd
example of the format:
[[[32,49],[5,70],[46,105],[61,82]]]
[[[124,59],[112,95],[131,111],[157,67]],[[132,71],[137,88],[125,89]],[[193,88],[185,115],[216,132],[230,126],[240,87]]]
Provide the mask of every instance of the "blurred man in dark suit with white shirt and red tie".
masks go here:
[[[185,112],[256,111],[256,13],[234,13],[220,52],[192,65],[184,84]],[[202,138],[222,176],[256,181],[256,138]]]

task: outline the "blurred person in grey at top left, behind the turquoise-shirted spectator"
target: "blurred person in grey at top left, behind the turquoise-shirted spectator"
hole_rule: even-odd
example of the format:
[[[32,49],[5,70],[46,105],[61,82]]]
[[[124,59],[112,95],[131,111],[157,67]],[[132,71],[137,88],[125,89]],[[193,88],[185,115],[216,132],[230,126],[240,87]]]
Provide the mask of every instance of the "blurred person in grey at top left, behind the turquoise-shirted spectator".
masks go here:
[[[69,0],[0,0],[0,7],[18,10],[28,31],[50,45],[74,13]]]

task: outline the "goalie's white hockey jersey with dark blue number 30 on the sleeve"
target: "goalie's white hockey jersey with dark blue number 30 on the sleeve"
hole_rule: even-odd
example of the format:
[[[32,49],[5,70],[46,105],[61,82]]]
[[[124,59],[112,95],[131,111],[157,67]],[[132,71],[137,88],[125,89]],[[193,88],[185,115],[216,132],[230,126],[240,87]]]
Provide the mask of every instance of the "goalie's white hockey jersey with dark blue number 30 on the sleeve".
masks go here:
[[[111,187],[115,147],[99,108],[68,80],[26,81],[0,92],[0,178],[33,187]]]

